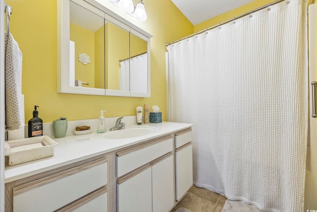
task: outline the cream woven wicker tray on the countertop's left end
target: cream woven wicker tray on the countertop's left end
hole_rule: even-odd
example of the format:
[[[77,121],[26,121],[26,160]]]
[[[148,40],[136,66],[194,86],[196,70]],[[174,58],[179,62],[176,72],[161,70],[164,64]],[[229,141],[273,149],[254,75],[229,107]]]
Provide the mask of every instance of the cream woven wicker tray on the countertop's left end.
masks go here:
[[[38,160],[54,155],[54,145],[57,145],[48,136],[32,137],[28,139],[18,139],[5,141],[4,155],[8,156],[8,165],[17,165],[33,160]],[[19,149],[15,148],[18,147]],[[16,151],[13,151],[17,149]],[[26,149],[27,148],[27,149]]]

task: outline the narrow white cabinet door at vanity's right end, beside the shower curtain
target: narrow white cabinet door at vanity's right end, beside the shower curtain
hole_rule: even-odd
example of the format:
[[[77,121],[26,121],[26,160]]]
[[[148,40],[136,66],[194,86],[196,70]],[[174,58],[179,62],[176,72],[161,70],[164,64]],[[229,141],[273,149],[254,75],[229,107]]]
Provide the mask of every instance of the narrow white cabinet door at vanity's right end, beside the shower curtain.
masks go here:
[[[193,147],[187,143],[175,150],[176,200],[193,185]]]

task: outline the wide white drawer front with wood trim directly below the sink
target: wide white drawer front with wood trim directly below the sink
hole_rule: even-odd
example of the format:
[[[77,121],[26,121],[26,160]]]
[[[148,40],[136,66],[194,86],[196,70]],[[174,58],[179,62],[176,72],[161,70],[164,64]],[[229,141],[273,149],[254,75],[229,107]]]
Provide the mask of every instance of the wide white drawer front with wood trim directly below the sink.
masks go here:
[[[171,136],[149,141],[147,143],[117,152],[117,177],[129,173],[140,166],[173,150]]]

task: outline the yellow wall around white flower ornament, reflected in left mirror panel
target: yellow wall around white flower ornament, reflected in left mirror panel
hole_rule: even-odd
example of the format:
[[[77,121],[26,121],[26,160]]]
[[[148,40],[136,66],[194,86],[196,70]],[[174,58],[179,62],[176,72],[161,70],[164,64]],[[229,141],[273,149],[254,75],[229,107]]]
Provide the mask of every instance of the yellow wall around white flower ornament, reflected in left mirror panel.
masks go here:
[[[75,24],[70,24],[70,40],[75,42],[75,79],[89,82],[83,87],[95,87],[95,33]],[[90,63],[82,64],[78,60],[78,55],[86,53],[90,58]]]

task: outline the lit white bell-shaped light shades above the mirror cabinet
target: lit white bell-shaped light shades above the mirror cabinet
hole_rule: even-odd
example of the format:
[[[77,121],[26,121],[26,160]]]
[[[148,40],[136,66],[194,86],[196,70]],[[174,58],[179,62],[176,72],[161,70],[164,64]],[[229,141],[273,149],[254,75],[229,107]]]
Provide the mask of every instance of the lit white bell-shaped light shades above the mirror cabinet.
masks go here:
[[[132,0],[108,0],[112,1],[115,5],[121,8],[123,11],[133,15],[133,17],[139,21],[145,21],[147,19],[147,13],[145,11],[142,0],[139,1],[134,9]]]

